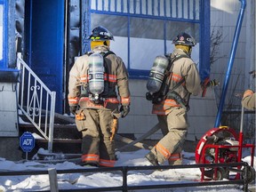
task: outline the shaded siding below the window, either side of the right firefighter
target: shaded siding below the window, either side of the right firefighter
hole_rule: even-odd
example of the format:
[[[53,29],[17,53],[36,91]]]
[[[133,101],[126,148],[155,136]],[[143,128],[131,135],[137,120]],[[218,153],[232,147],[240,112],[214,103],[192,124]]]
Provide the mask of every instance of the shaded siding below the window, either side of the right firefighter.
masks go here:
[[[124,119],[120,119],[118,132],[134,134],[135,138],[139,138],[157,124],[157,117],[151,114],[152,104],[145,98],[147,80],[130,80],[129,82],[132,92],[131,111]],[[201,95],[191,97],[189,105],[187,139],[200,139],[215,122],[217,108],[214,91],[208,90],[204,98]],[[162,136],[158,131],[148,139],[158,140]]]

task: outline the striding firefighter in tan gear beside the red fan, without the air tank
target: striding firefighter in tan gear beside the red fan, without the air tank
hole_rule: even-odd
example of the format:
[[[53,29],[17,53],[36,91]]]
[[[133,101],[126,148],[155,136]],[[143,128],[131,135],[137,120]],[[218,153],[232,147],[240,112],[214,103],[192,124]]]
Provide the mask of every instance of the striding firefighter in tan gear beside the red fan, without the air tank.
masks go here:
[[[167,92],[164,95],[159,94],[158,99],[154,95],[152,97],[152,113],[157,115],[158,124],[164,134],[145,156],[153,165],[164,164],[166,160],[169,164],[182,164],[182,145],[188,132],[189,96],[196,96],[201,91],[200,76],[195,62],[191,59],[192,47],[196,45],[195,39],[187,33],[180,33],[173,39],[172,44],[175,45],[170,54],[172,66],[169,73],[165,73],[168,77],[164,82]]]

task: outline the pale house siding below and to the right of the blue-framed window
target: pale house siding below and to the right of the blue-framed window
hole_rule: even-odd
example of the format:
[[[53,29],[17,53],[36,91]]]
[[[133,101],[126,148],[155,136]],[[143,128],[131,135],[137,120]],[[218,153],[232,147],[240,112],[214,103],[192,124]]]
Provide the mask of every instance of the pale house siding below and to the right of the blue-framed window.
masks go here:
[[[241,3],[238,0],[211,0],[211,31],[220,30],[222,33],[222,43],[218,47],[219,54],[217,55],[220,59],[212,64],[211,78],[219,80],[220,86],[214,88],[214,90],[208,90],[205,98],[200,96],[191,97],[190,111],[188,111],[189,128],[187,140],[200,139],[205,132],[214,126],[240,6]],[[236,106],[241,108],[241,97],[237,97],[235,94],[240,93],[241,95],[246,87],[253,88],[255,86],[252,83],[252,77],[248,75],[249,71],[255,69],[254,36],[255,1],[247,0],[243,27],[236,49],[236,57],[226,97],[226,104],[234,102],[233,107],[235,108]],[[145,98],[147,92],[146,84],[147,80],[130,80],[132,92],[131,112],[119,121],[119,132],[134,133],[135,138],[148,132],[149,129],[157,124],[157,117],[151,114],[152,105]],[[161,137],[162,133],[158,131],[150,136],[149,139],[157,140]]]

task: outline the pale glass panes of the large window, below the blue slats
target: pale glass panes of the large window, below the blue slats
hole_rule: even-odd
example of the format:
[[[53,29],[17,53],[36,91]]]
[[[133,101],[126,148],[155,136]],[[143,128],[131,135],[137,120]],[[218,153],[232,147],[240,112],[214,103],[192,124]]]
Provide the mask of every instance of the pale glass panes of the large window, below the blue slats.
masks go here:
[[[172,39],[181,31],[199,41],[198,23],[99,13],[91,17],[91,28],[101,25],[113,33],[110,48],[124,60],[130,76],[148,77],[156,56],[172,52]],[[199,44],[193,48],[192,58],[199,63]]]

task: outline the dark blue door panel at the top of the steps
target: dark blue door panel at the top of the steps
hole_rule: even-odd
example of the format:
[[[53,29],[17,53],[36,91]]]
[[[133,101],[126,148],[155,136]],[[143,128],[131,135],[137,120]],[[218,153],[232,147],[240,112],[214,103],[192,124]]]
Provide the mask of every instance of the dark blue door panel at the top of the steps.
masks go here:
[[[30,67],[56,92],[56,111],[63,106],[64,3],[63,0],[30,1]],[[28,7],[28,6],[27,6]]]

